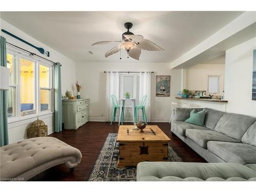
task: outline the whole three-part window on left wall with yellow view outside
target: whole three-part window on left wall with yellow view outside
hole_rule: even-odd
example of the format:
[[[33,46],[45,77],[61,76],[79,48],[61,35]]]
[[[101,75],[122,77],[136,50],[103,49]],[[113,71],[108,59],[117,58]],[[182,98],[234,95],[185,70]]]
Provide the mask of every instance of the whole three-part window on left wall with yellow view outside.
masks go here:
[[[8,90],[8,117],[20,118],[53,109],[53,67],[27,53],[7,50],[7,67],[10,69]]]

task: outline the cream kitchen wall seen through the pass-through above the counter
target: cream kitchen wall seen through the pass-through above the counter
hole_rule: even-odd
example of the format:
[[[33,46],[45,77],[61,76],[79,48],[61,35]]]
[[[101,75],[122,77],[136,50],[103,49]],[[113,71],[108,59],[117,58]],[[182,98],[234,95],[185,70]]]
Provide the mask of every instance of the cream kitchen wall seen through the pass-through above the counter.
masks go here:
[[[224,64],[224,63],[223,63]],[[207,75],[221,75],[221,92],[224,86],[225,65],[198,64],[186,69],[186,89],[207,91]]]

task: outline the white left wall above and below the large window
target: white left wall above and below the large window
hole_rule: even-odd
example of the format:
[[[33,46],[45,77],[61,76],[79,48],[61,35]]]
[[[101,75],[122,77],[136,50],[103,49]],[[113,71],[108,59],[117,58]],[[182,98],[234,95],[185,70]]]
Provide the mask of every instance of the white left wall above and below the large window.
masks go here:
[[[28,34],[24,33],[23,31],[20,31],[16,27],[10,25],[9,23],[5,22],[5,20],[1,19],[0,20],[1,24],[1,29],[5,29],[9,31],[10,33],[30,42],[31,44],[35,45],[36,47],[42,47],[50,52],[50,57],[46,57],[52,61],[55,62],[60,62],[62,67],[61,67],[61,89],[62,89],[62,94],[65,94],[66,90],[72,90],[74,91],[75,89],[75,62],[65,55],[62,55],[55,51],[54,49],[42,44],[38,40],[34,39],[33,37],[29,36]],[[18,47],[21,47],[23,49],[27,49],[33,53],[36,53],[40,56],[44,56],[40,54],[37,50],[34,48],[24,44],[23,42],[1,32],[1,35],[4,36],[8,42],[11,44],[14,44]],[[65,43],[63,41],[63,43]],[[33,118],[32,118],[33,117]],[[53,133],[53,113],[47,114],[47,115],[42,115],[39,117],[39,119],[44,120],[45,123],[48,125],[48,134]],[[8,123],[8,129],[9,129],[9,143],[13,143],[22,139],[27,138],[27,133],[26,130],[31,122],[36,120],[35,116],[27,116],[24,117],[23,120],[20,121],[15,121]]]

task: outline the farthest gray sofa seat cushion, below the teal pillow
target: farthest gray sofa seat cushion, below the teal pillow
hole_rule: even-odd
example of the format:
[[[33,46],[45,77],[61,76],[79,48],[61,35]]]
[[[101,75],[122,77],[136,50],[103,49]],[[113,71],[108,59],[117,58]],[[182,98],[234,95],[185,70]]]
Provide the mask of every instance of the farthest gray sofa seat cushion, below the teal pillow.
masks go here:
[[[190,124],[184,121],[173,121],[171,126],[172,126],[172,129],[175,130],[181,136],[185,136],[187,129],[209,130],[205,126]]]

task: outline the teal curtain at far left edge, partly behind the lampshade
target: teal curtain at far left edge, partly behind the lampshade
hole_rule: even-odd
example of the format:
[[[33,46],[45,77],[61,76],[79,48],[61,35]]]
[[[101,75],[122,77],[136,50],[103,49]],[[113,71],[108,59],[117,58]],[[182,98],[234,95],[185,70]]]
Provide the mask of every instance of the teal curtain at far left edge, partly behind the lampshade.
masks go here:
[[[0,60],[1,66],[6,67],[6,39],[1,37]],[[0,91],[0,146],[8,144],[8,120],[7,120],[7,91]]]

